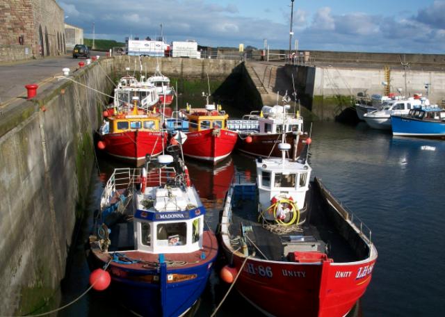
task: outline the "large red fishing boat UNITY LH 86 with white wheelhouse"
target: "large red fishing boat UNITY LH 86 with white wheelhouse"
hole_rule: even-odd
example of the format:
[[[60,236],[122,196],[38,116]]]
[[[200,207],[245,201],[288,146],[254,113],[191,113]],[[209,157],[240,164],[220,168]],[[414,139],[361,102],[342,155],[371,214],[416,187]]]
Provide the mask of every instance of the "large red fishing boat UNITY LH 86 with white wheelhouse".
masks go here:
[[[306,158],[287,159],[291,145],[278,147],[282,158],[257,159],[256,184],[229,189],[221,277],[266,316],[346,316],[371,282],[371,231],[309,181]]]

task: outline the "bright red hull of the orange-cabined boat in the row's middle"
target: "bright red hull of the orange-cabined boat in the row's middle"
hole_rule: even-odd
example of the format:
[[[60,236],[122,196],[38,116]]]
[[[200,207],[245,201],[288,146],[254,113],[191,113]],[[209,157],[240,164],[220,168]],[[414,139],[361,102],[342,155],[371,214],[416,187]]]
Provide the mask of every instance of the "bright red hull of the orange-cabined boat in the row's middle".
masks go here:
[[[229,156],[234,149],[238,134],[233,131],[208,129],[188,132],[182,149],[184,155],[216,163]]]

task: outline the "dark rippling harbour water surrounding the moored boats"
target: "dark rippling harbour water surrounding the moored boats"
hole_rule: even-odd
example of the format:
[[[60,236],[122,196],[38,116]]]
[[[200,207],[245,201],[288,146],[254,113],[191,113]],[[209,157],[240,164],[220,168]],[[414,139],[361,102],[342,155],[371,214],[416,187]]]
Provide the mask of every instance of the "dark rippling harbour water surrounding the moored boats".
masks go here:
[[[309,124],[306,128],[309,128]],[[354,316],[445,316],[445,141],[394,138],[391,133],[314,122],[309,162],[316,177],[372,230],[378,261],[371,284]],[[216,168],[188,162],[193,184],[216,229],[232,176],[254,181],[254,158],[234,153]],[[85,250],[92,214],[107,175],[124,165],[99,156],[92,176],[90,204],[76,234],[71,265],[63,283],[63,302],[88,287]],[[214,274],[195,316],[209,316],[227,291]],[[218,316],[261,316],[232,291]],[[131,316],[106,294],[90,291],[59,316]]]

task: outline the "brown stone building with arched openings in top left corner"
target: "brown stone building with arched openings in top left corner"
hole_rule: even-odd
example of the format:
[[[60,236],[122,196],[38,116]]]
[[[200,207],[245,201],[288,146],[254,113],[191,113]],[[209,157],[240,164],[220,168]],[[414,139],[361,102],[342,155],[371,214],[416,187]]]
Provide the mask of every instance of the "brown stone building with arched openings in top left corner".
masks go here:
[[[65,54],[64,12],[55,0],[0,1],[0,61]]]

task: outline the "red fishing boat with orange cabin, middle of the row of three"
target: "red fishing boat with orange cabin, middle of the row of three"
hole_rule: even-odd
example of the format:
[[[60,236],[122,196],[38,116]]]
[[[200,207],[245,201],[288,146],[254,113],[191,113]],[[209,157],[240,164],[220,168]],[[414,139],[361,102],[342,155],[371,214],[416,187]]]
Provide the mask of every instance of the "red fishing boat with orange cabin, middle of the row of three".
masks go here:
[[[205,108],[187,107],[183,111],[188,120],[184,155],[213,164],[229,156],[238,138],[238,133],[227,129],[229,115],[214,104],[207,104]]]

